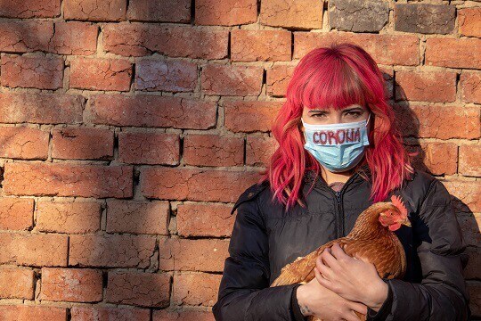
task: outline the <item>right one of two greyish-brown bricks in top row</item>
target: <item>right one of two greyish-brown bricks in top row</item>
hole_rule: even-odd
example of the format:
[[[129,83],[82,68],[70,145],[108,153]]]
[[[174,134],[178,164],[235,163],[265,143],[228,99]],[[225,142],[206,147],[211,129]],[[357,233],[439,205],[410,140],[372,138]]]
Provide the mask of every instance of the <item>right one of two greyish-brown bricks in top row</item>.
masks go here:
[[[449,34],[454,29],[456,6],[448,4],[395,4],[395,30],[421,34]]]

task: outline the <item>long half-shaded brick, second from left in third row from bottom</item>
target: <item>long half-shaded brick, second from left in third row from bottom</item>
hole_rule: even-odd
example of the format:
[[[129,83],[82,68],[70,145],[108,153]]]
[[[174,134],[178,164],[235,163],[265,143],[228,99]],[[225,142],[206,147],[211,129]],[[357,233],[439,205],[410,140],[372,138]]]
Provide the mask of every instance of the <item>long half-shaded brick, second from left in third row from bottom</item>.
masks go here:
[[[154,248],[154,236],[70,235],[69,266],[148,268]]]

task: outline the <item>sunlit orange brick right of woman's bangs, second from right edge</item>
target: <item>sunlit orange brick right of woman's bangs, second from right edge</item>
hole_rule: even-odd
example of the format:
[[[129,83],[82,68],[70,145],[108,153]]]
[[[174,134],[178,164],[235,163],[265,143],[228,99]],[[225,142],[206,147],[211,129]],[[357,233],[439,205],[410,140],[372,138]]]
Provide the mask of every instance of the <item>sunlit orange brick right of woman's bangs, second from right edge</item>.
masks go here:
[[[451,71],[397,71],[395,98],[450,103],[456,100],[456,73]]]

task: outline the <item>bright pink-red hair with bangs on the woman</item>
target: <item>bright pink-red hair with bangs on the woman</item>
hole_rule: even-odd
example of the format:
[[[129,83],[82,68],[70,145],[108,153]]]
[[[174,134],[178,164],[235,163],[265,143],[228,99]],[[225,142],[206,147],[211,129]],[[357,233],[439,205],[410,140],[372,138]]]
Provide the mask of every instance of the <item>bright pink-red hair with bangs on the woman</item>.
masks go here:
[[[371,169],[373,202],[382,202],[413,173],[415,153],[404,150],[394,111],[386,101],[382,74],[360,46],[344,43],[307,53],[294,70],[286,97],[271,129],[279,147],[259,181],[269,179],[273,200],[277,197],[286,210],[296,202],[302,205],[298,198],[306,170],[314,169],[316,175],[321,171],[320,163],[304,148],[300,122],[303,106],[340,110],[361,104],[371,111],[371,144],[355,171],[368,179],[360,167],[367,163]]]

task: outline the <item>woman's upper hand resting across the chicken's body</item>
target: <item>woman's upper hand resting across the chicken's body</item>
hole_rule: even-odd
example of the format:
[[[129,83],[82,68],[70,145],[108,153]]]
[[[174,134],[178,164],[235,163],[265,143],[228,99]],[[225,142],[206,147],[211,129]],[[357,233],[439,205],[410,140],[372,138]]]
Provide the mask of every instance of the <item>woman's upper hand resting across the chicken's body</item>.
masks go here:
[[[374,264],[364,260],[351,258],[335,243],[316,259],[316,278],[319,284],[344,299],[363,302],[378,311],[387,299],[388,285],[379,277]]]

